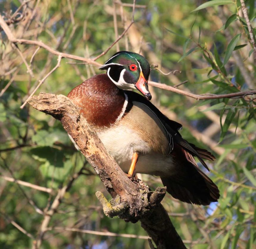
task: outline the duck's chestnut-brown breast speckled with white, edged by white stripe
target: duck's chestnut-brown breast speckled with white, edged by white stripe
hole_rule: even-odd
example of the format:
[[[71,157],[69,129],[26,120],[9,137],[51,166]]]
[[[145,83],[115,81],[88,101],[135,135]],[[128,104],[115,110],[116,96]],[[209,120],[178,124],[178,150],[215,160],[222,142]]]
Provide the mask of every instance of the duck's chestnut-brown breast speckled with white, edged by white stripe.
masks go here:
[[[79,108],[89,124],[109,127],[125,112],[124,92],[106,74],[94,75],[75,87],[68,98]]]

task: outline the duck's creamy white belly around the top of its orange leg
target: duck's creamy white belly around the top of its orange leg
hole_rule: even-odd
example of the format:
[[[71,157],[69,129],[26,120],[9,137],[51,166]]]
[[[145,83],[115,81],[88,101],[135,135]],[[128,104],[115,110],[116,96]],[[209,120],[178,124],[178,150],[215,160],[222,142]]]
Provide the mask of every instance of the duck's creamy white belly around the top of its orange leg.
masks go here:
[[[165,157],[161,153],[152,151],[149,144],[129,127],[118,125],[97,132],[97,134],[107,151],[114,157],[124,172],[129,171],[132,154],[139,152],[137,173],[164,176],[166,172],[170,175],[170,170],[173,167],[171,156]]]

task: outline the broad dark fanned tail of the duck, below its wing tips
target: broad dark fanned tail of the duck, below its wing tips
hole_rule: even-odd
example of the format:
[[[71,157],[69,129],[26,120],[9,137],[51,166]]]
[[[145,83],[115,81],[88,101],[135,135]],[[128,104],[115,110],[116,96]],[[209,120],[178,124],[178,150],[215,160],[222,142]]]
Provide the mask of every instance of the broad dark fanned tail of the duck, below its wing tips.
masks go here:
[[[182,172],[170,177],[161,177],[167,192],[187,203],[209,205],[220,197],[218,187],[198,167],[188,162]]]

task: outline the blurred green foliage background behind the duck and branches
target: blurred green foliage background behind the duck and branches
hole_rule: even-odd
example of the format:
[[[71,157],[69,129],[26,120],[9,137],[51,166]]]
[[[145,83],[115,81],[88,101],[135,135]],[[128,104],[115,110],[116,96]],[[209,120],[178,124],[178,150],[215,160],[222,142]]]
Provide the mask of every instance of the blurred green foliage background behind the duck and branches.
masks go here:
[[[181,71],[163,75],[152,70],[151,79],[169,85],[188,80],[179,86],[188,92],[227,94],[255,89],[255,63],[247,23],[240,2],[231,2],[138,0],[136,3],[145,4],[146,8],[135,9],[135,23],[119,41],[120,49],[143,53],[150,64],[157,64],[164,72]],[[206,5],[200,5],[204,3]],[[0,1],[5,20],[18,20],[22,13],[25,14],[21,21],[10,24],[16,37],[41,40],[60,52],[90,58],[115,40],[112,1],[32,0],[21,4],[18,0]],[[129,25],[132,7],[120,7],[119,4],[115,7],[118,33],[121,34],[124,26]],[[200,10],[192,12],[197,7]],[[246,1],[246,7],[252,27],[255,27],[255,0]],[[19,15],[13,15],[16,10]],[[256,30],[253,32],[255,34]],[[0,247],[31,247],[33,239],[11,221],[36,238],[43,220],[37,208],[47,210],[57,190],[83,167],[83,174],[73,182],[51,217],[51,230],[46,233],[42,247],[149,248],[145,239],[54,229],[56,226],[75,227],[146,235],[139,223],[125,223],[104,216],[95,192],[102,191],[105,195],[107,192],[85,158],[76,151],[61,124],[29,105],[20,108],[39,81],[56,65],[57,56],[43,48],[34,54],[37,48],[32,45],[18,47],[35,77],[27,73],[17,50],[1,31]],[[98,62],[104,63],[115,52],[116,46],[113,46]],[[95,73],[100,73],[96,67],[64,58],[36,94],[67,95]],[[188,242],[188,248],[255,248],[255,100],[245,96],[196,101],[161,89],[151,91],[154,103],[167,110],[166,115],[184,124],[182,135],[185,139],[210,148],[216,155],[216,161],[208,163],[211,170],[208,175],[220,189],[218,203],[200,207],[181,203],[170,195],[164,198],[163,205],[177,232]],[[18,185],[3,176],[47,187],[52,192]],[[152,189],[160,185],[158,178],[140,177]]]

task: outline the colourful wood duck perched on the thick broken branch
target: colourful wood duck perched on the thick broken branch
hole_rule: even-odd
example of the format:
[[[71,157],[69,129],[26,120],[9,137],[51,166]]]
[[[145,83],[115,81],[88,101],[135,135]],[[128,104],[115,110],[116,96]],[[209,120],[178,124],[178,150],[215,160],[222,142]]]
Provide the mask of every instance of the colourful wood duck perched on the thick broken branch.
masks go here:
[[[168,119],[149,100],[150,66],[127,51],[115,53],[100,70],[75,87],[68,98],[95,129],[107,151],[133,179],[135,172],[160,176],[174,198],[208,205],[219,198],[218,187],[199,169],[194,157],[215,157],[183,139],[182,125]],[[141,94],[127,89],[137,89]]]

